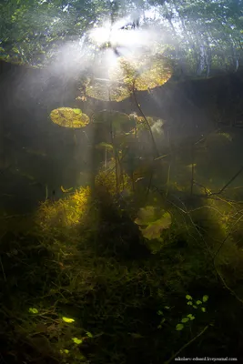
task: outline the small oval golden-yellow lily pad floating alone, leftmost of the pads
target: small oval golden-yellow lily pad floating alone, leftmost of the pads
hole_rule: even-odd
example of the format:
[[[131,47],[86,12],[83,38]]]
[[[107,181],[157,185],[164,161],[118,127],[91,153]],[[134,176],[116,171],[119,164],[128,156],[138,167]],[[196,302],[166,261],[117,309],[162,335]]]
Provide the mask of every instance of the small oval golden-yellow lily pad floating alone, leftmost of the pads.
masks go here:
[[[89,117],[83,114],[80,109],[71,107],[59,107],[52,110],[50,114],[51,120],[59,125],[65,127],[84,127],[89,123]]]

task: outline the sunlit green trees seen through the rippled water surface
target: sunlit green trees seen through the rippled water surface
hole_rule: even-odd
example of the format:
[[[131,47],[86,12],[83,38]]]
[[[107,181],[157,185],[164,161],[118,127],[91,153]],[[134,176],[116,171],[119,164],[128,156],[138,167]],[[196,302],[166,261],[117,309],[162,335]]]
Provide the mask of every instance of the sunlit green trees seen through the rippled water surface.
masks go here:
[[[135,37],[137,26],[157,32],[153,45],[177,61],[180,71],[209,76],[237,70],[243,55],[242,0],[4,0],[0,4],[2,59],[43,66],[66,42],[92,28],[119,23]],[[86,38],[90,45],[90,39]],[[96,48],[96,45],[93,45]]]

